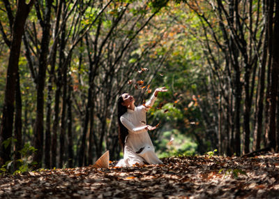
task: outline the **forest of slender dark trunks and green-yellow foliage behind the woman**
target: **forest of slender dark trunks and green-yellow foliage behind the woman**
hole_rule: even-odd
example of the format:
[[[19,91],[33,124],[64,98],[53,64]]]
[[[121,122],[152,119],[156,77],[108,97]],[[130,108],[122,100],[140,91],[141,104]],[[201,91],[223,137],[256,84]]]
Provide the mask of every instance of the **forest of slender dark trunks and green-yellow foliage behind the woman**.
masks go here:
[[[139,104],[163,85],[148,114],[157,147],[171,131],[197,153],[278,150],[276,1],[0,4],[1,165],[25,143],[37,168],[89,165],[107,149],[119,159],[117,96]]]

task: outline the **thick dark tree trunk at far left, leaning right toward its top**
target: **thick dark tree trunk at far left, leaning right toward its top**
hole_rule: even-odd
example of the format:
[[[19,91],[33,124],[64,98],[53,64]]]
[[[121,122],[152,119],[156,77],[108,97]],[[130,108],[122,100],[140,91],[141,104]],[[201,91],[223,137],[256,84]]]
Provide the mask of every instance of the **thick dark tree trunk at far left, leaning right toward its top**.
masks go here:
[[[23,0],[17,1],[17,13],[15,21],[12,23],[12,37],[10,45],[10,56],[8,60],[8,69],[6,74],[6,88],[3,103],[3,116],[0,128],[0,165],[6,163],[10,159],[10,145],[3,147],[2,142],[12,136],[13,132],[13,114],[15,103],[15,87],[18,73],[18,61],[20,59],[20,47],[22,43],[22,35],[24,32],[24,24],[27,20],[33,0],[26,4]]]

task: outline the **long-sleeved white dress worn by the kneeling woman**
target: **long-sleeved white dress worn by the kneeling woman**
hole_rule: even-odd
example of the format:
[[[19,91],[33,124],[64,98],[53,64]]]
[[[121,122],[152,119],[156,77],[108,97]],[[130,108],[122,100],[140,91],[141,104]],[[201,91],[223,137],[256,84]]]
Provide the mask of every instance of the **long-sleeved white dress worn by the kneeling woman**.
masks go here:
[[[162,164],[155,154],[155,149],[146,131],[146,112],[151,108],[156,96],[152,95],[151,99],[144,105],[135,107],[135,110],[128,109],[120,117],[121,123],[128,129],[124,147],[124,157],[116,167],[132,166],[135,163],[140,165],[144,162],[149,164]]]

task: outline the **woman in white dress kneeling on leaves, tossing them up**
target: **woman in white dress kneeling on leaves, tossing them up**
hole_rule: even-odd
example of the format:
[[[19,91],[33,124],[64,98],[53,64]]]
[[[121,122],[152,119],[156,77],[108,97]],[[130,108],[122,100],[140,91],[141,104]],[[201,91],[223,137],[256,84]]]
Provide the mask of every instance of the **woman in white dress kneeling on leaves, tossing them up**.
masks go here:
[[[162,161],[155,154],[153,144],[147,131],[156,126],[146,125],[146,112],[151,108],[159,92],[165,92],[165,87],[154,91],[151,99],[145,104],[135,107],[135,99],[128,93],[119,96],[118,122],[119,141],[123,147],[124,157],[116,166],[132,166],[135,163],[160,164]]]

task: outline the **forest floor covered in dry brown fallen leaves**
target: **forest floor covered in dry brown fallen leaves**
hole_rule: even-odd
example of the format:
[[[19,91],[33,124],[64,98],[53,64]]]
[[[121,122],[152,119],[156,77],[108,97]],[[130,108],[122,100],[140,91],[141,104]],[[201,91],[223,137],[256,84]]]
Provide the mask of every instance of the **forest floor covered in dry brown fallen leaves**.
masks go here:
[[[0,198],[279,198],[279,154],[180,156],[163,163],[3,176]]]

